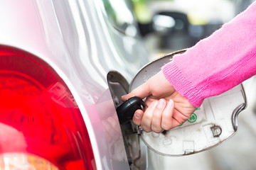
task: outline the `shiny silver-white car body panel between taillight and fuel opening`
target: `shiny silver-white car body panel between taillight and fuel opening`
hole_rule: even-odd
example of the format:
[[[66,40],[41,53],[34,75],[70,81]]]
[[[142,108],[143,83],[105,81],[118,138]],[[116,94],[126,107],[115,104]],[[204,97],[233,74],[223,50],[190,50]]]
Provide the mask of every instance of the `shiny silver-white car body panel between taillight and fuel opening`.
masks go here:
[[[97,169],[129,169],[107,86],[117,70],[127,81],[148,62],[141,40],[119,33],[102,1],[1,1],[0,44],[31,52],[68,85],[87,126]],[[111,126],[110,126],[111,125]]]

